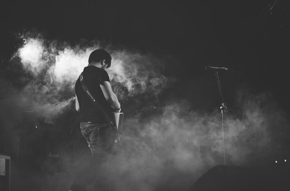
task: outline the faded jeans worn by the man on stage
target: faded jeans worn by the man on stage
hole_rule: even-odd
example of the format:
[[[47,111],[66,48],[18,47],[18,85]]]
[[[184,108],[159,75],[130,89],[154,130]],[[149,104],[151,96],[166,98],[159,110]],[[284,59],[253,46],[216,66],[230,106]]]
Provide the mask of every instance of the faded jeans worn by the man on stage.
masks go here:
[[[109,160],[115,146],[115,128],[107,127],[106,124],[82,122],[80,129],[88,142],[92,157],[77,175],[70,190],[86,191],[86,187],[92,183],[98,190],[108,190],[104,163]]]

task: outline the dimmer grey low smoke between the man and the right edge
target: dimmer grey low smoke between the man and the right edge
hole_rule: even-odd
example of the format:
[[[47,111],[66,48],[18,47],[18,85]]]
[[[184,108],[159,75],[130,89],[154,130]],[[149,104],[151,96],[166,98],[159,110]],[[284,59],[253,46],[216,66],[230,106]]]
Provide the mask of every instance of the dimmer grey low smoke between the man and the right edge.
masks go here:
[[[289,128],[285,113],[269,94],[253,96],[240,92],[240,97],[247,97],[236,103],[242,115],[228,114],[231,129],[224,125],[226,164],[264,166],[274,163],[277,153],[282,152],[281,139],[287,140],[286,135],[280,134],[282,129]],[[144,190],[188,190],[207,170],[223,165],[220,110],[189,112],[189,105],[185,100],[175,100],[146,119],[126,120],[122,147],[129,162],[119,156],[114,161],[119,165],[117,174],[146,184],[134,173],[134,168],[153,185],[147,183]],[[279,132],[274,133],[277,128]],[[127,182],[126,178],[122,181]],[[120,185],[121,190],[139,189],[137,185]]]

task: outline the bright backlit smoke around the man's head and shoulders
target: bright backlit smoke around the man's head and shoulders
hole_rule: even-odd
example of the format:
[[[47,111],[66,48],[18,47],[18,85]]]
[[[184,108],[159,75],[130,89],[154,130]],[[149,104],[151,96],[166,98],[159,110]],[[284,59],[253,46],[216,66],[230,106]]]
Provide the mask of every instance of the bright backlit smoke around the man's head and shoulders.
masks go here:
[[[10,62],[19,60],[25,72],[32,76],[23,91],[26,95],[31,92],[37,109],[45,108],[47,114],[50,111],[60,114],[66,104],[74,101],[74,84],[88,65],[90,53],[101,47],[98,42],[91,46],[70,46],[65,42],[48,41],[41,35],[30,36],[30,33],[21,36],[23,45]],[[120,101],[126,102],[139,95],[157,101],[157,95],[175,81],[161,73],[164,63],[151,55],[112,46],[102,48],[112,54],[108,74]]]

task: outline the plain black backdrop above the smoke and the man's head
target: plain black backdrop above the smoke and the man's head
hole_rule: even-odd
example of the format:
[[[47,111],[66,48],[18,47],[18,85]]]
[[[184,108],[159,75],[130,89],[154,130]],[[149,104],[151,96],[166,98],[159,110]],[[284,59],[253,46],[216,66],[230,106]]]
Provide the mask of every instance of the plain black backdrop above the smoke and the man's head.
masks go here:
[[[2,67],[21,43],[16,34],[36,31],[72,44],[98,39],[156,57],[170,55],[165,74],[186,86],[197,76],[215,80],[204,66],[227,67],[220,78],[235,82],[232,91],[245,82],[253,91],[270,91],[289,110],[290,5],[275,2],[9,1],[1,8]]]

